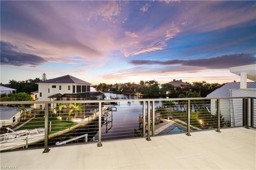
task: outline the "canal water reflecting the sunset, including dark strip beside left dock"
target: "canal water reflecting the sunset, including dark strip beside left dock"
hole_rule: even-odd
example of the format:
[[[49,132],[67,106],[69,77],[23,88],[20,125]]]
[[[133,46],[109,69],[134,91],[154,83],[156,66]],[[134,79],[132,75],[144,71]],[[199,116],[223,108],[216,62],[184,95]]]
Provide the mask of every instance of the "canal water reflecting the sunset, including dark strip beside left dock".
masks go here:
[[[139,99],[140,96],[113,94],[106,92],[106,99]],[[155,106],[162,105],[162,102],[156,102]],[[147,106],[146,106],[147,109]],[[101,126],[101,139],[115,140],[124,138],[141,137],[143,132],[142,113],[143,102],[120,102],[117,105],[112,105],[112,110],[107,115],[102,115]],[[68,134],[60,135],[56,138],[49,139],[50,145],[55,145],[55,142],[68,140],[78,137],[83,134],[88,134],[88,142],[98,140],[98,120],[90,123],[89,125],[79,127]],[[85,139],[81,138],[69,143],[84,142]]]

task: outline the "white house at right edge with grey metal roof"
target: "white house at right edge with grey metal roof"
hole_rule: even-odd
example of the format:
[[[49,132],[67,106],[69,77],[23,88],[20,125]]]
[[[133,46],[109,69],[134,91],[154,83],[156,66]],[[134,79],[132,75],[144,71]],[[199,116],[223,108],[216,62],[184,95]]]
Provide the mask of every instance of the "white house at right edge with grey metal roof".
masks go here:
[[[214,90],[206,98],[213,97],[256,97],[256,64],[230,67],[230,72],[240,75],[240,82],[227,83],[219,89]],[[247,79],[253,82],[247,82]],[[251,101],[249,100],[249,105]],[[231,126],[243,125],[242,99],[221,99],[220,113],[225,120],[230,121]],[[254,100],[254,114],[256,113],[256,101]],[[249,107],[249,113],[251,112]],[[211,113],[217,112],[217,100],[211,100]],[[249,116],[249,122],[250,122]],[[254,116],[256,124],[256,116]]]

